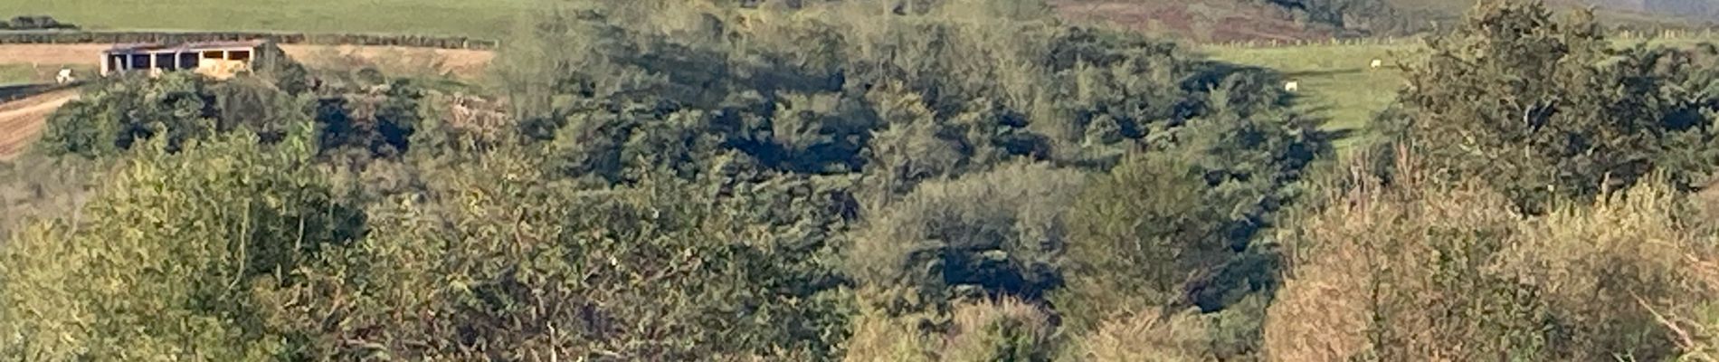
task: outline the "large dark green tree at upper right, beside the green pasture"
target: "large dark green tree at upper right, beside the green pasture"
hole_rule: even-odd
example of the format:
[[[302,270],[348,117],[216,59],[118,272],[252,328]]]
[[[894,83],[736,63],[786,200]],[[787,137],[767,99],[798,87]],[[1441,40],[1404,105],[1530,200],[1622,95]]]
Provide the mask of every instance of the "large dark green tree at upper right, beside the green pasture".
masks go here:
[[[1554,21],[1539,2],[1487,2],[1408,67],[1387,134],[1444,177],[1485,182],[1528,213],[1654,172],[1690,189],[1714,170],[1719,101],[1693,91],[1719,84],[1712,57],[1612,51],[1590,14]]]

